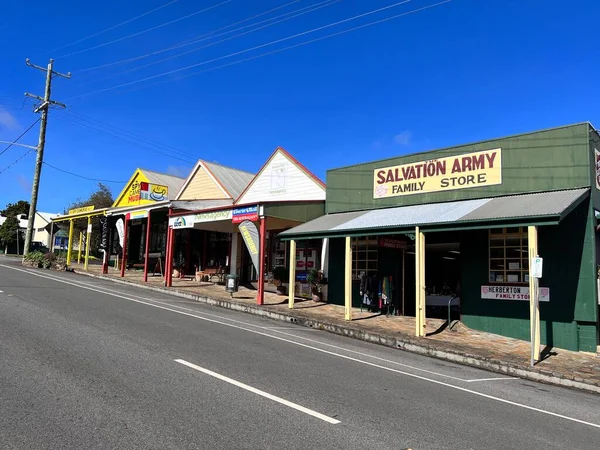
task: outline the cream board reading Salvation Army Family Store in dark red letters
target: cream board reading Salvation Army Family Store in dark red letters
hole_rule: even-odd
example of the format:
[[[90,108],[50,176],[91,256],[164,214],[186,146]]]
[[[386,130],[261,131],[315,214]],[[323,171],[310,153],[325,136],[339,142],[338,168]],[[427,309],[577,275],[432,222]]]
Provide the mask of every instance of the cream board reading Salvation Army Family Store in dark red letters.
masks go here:
[[[502,184],[502,149],[419,161],[373,171],[373,198]]]

